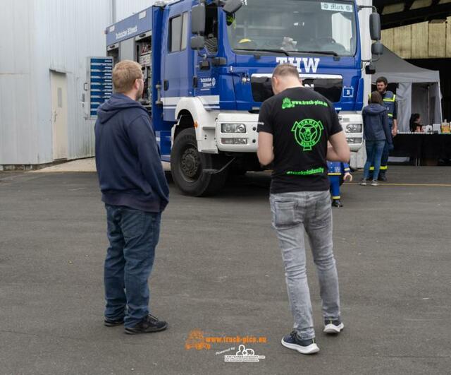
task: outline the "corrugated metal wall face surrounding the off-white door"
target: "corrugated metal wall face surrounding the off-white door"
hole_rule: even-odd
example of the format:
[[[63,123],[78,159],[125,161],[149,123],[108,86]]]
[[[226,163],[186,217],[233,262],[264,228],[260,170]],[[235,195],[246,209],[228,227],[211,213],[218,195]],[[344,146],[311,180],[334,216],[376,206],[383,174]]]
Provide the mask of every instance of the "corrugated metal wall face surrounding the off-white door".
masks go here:
[[[109,0],[35,0],[35,81],[39,90],[38,120],[50,124],[39,162],[51,161],[51,87],[50,71],[66,73],[68,80],[68,158],[94,155],[94,124],[85,120],[82,108],[83,83],[86,81],[87,56],[104,56],[104,29],[111,22]]]

